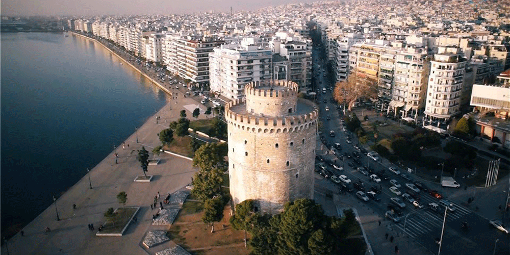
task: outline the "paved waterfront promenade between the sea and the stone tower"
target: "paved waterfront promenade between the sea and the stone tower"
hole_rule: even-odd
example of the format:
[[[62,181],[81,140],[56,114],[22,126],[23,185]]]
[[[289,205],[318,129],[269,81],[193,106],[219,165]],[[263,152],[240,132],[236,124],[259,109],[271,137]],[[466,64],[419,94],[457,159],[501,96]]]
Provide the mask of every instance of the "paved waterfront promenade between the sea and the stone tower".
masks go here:
[[[175,98],[175,96],[173,96]],[[136,150],[142,146],[148,151],[160,144],[158,133],[168,128],[168,124],[180,117],[180,111],[185,106],[197,105],[197,102],[179,93],[176,99],[170,99],[160,111],[137,129],[125,143],[117,145],[97,166],[91,168],[89,176],[85,175],[78,183],[69,188],[55,203],[50,205],[39,216],[23,228],[24,236],[20,233],[8,240],[2,246],[2,254],[147,254],[141,247],[141,240],[149,229],[152,214],[150,204],[157,192],[164,197],[168,193],[186,186],[191,182],[193,173],[197,170],[191,166],[189,159],[161,154],[159,165],[150,165],[147,174],[154,175],[150,183],[133,182],[136,176],[143,174],[139,162],[136,160]],[[201,106],[201,108],[204,108]],[[191,112],[188,112],[191,116]],[[160,116],[156,123],[156,116]],[[203,114],[199,119],[205,118]],[[125,123],[119,123],[122,125]],[[139,143],[137,143],[137,139]],[[129,147],[127,146],[129,144]],[[83,151],[87,153],[87,151]],[[118,154],[115,163],[115,153]],[[71,160],[71,159],[61,159]],[[69,171],[86,172],[83,169],[69,169]],[[58,178],[58,176],[55,176]],[[122,237],[96,237],[96,231],[90,231],[88,224],[93,223],[96,230],[105,222],[104,212],[108,208],[118,208],[116,195],[127,193],[126,206],[140,207],[137,222],[127,227]],[[163,199],[163,198],[162,198]],[[76,209],[72,208],[75,204]],[[30,210],[26,208],[13,210]],[[60,220],[57,220],[57,211]],[[50,232],[45,233],[49,227]]]

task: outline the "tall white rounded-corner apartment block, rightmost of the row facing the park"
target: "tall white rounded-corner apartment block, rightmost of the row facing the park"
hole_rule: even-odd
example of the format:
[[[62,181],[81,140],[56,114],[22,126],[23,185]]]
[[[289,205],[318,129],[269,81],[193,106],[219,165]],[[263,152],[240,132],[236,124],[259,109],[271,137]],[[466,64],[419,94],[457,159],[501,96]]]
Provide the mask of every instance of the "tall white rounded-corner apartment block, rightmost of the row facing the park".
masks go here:
[[[466,59],[458,47],[439,47],[430,61],[425,116],[447,120],[460,113]]]

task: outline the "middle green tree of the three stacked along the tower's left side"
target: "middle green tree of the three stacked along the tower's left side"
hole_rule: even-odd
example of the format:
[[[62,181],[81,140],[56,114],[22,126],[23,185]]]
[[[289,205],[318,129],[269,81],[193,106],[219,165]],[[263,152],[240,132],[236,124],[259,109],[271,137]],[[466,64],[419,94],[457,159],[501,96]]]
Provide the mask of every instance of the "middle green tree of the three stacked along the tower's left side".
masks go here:
[[[218,171],[200,170],[193,176],[193,190],[191,193],[200,201],[205,202],[215,195],[221,195],[223,178]]]

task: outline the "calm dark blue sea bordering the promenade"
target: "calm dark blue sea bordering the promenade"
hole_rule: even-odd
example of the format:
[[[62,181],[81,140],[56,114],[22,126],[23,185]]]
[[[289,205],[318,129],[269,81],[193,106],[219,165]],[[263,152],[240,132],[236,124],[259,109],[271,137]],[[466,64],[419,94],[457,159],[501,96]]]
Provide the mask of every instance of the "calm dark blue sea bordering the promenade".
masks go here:
[[[97,43],[2,33],[1,225],[26,224],[166,103]]]

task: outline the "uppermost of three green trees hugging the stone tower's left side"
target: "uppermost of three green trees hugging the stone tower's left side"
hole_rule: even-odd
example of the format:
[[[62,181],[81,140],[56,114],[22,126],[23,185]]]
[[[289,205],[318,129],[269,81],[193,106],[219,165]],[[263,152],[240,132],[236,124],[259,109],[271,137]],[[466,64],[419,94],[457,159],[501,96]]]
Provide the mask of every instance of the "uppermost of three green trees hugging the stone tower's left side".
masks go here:
[[[222,173],[226,170],[227,152],[228,145],[226,143],[203,144],[195,151],[193,166],[205,171],[218,170]]]

